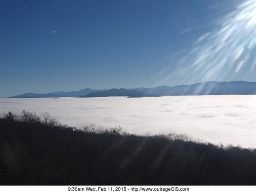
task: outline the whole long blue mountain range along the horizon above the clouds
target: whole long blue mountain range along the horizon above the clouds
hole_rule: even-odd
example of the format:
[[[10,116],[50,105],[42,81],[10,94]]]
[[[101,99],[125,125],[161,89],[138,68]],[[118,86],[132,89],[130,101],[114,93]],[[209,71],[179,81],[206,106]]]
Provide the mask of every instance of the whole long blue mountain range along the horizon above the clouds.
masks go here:
[[[103,96],[187,96],[187,95],[256,95],[256,82],[208,81],[191,85],[176,85],[173,87],[160,86],[155,88],[109,89],[94,90],[82,89],[73,92],[52,92],[47,94],[25,93],[8,98],[39,98],[39,97],[103,97]]]

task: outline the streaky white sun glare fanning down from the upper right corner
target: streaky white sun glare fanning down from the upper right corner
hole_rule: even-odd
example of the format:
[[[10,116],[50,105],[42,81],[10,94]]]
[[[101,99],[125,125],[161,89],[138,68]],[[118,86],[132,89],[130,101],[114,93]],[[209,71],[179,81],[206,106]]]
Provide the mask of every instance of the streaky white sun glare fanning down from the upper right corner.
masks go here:
[[[214,29],[194,40],[187,55],[177,61],[177,70],[164,74],[166,82],[179,79],[180,69],[187,71],[180,84],[232,80],[234,76],[243,79],[255,72],[256,0],[235,5],[235,10],[211,25]]]

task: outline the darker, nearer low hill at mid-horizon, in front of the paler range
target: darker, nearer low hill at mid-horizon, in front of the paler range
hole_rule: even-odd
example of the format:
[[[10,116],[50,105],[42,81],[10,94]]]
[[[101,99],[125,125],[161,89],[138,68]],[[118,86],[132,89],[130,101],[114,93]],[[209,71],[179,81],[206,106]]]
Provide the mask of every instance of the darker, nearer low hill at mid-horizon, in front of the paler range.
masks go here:
[[[91,92],[86,96],[80,96],[80,97],[107,97],[107,96],[128,96],[129,98],[132,97],[154,97],[152,94],[144,93],[137,91],[135,89],[109,89],[102,92]]]

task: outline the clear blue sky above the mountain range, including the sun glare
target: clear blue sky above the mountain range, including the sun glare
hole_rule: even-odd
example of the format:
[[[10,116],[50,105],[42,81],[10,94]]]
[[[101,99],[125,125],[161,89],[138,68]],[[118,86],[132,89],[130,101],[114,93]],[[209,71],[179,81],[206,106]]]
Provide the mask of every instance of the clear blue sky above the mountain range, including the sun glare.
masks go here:
[[[256,81],[255,0],[0,0],[0,97]]]

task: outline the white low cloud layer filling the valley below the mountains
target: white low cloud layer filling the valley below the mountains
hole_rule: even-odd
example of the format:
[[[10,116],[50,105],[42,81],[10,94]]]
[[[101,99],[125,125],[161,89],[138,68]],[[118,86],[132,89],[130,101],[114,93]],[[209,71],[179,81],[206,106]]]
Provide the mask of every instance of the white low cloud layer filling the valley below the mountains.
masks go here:
[[[256,148],[256,97],[164,96],[145,98],[0,99],[0,112],[51,113],[64,124],[121,126],[137,134],[186,134],[214,144]]]

